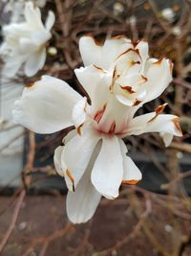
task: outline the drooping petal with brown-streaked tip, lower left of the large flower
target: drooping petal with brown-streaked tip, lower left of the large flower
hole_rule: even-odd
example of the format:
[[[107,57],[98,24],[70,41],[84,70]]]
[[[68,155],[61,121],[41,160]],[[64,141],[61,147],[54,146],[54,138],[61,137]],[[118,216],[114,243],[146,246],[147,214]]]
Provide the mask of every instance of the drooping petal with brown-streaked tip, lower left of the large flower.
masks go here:
[[[65,169],[65,179],[69,190],[74,190],[78,181],[84,174],[91,156],[95,151],[96,144],[100,137],[94,130],[86,130],[79,136],[74,136],[64,147],[61,161],[62,169]],[[76,157],[74,159],[74,156]]]

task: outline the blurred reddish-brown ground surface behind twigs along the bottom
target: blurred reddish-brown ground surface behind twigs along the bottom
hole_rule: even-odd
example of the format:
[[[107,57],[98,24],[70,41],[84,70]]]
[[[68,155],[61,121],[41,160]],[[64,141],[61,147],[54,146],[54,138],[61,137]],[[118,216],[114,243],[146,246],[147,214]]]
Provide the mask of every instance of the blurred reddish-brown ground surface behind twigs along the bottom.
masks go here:
[[[15,203],[8,208],[11,198],[0,198],[0,241],[11,222]],[[141,199],[139,201],[141,203]],[[6,209],[6,212],[4,209]],[[2,214],[2,211],[3,214]],[[175,241],[180,240],[179,233],[170,222],[168,212],[158,205],[152,204],[152,231],[159,244],[171,250]],[[128,238],[138,220],[125,201],[101,203],[93,221],[87,224],[70,225],[65,212],[63,196],[38,196],[25,198],[18,220],[2,256],[65,256],[85,255],[96,256],[97,252],[117,244],[107,255],[114,256],[157,256],[156,247],[140,229],[135,236]],[[182,221],[180,229],[184,235],[189,233],[189,221]],[[148,235],[148,234],[147,234]],[[47,244],[47,238],[49,243]],[[119,241],[127,238],[123,244]],[[100,254],[102,255],[102,254]],[[180,255],[191,255],[191,249],[186,245]]]

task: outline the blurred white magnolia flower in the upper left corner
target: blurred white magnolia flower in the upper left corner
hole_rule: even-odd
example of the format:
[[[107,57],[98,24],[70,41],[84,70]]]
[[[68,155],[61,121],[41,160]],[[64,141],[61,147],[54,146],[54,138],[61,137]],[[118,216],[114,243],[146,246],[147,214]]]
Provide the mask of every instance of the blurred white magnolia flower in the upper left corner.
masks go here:
[[[25,19],[21,23],[11,23],[3,27],[4,43],[0,55],[5,60],[3,74],[13,77],[22,64],[26,76],[33,76],[41,69],[46,60],[46,44],[52,37],[51,29],[54,14],[49,12],[46,24],[41,21],[41,13],[34,8],[32,2],[25,6]]]

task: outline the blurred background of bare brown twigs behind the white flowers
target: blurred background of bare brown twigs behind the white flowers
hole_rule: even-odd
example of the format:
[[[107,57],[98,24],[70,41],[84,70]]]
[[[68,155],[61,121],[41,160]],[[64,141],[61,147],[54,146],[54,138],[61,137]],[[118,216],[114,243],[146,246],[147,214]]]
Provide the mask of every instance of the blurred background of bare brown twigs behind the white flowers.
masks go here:
[[[0,25],[23,20],[24,0],[1,0]],[[56,16],[47,61],[34,77],[0,77],[0,255],[191,255],[191,1],[35,0],[45,19]],[[26,84],[47,74],[68,81],[82,95],[74,68],[82,65],[78,39],[126,35],[149,42],[150,56],[171,58],[174,80],[141,113],[168,103],[183,131],[169,148],[158,134],[126,139],[143,175],[123,185],[116,200],[102,199],[86,224],[66,217],[67,189],[53,167],[53,151],[69,130],[38,135],[11,120]],[[0,34],[3,42],[3,35]],[[1,62],[3,66],[3,61]],[[98,95],[97,95],[98,96]]]

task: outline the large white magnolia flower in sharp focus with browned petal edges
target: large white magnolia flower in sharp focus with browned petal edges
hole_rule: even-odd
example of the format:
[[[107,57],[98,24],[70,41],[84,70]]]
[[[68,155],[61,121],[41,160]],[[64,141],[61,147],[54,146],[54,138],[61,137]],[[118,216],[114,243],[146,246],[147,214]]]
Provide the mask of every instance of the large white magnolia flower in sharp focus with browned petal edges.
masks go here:
[[[67,213],[74,223],[92,218],[101,196],[117,198],[121,183],[141,179],[123,137],[159,132],[168,146],[173,135],[181,136],[178,117],[161,114],[165,105],[135,116],[171,81],[168,59],[148,58],[146,42],[132,44],[121,36],[103,45],[83,36],[79,49],[85,67],[75,74],[89,99],[65,81],[45,76],[24,89],[12,112],[16,122],[37,133],[74,126],[53,157],[69,189]]]

